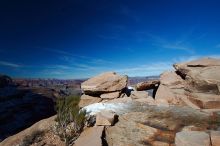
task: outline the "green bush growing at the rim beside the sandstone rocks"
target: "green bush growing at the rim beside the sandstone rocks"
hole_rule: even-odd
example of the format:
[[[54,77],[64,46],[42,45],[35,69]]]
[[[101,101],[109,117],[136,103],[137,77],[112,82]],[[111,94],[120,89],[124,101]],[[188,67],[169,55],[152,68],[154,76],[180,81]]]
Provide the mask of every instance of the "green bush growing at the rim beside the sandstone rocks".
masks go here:
[[[80,110],[79,101],[78,96],[60,98],[56,101],[56,131],[66,145],[70,145],[79,136],[86,121],[86,111]]]

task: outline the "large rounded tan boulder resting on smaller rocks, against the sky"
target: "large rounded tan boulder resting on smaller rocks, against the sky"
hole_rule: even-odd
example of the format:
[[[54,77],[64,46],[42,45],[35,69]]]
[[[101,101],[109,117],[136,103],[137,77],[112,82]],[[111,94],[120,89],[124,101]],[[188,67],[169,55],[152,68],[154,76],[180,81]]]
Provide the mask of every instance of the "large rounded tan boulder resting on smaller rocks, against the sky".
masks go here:
[[[115,72],[107,72],[81,84],[81,89],[88,95],[100,95],[102,93],[109,93],[121,91],[127,86],[128,77],[117,75]]]

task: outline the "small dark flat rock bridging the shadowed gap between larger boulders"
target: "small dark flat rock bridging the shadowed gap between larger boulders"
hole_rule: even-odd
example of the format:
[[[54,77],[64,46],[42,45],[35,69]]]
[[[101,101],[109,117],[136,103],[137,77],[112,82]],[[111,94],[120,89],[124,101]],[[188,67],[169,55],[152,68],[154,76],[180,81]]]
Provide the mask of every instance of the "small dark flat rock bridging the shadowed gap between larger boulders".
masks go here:
[[[151,80],[146,82],[140,82],[136,85],[135,88],[137,91],[150,90],[157,88],[159,84],[160,84],[159,80]]]

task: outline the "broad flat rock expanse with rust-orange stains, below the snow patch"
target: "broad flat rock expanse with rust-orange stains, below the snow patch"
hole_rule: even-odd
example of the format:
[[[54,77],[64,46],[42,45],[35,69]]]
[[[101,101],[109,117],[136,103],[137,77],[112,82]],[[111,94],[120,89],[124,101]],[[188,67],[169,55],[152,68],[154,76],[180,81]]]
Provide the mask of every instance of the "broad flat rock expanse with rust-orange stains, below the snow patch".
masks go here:
[[[183,126],[194,125],[204,129],[209,126],[208,114],[187,107],[148,105],[135,110],[138,112],[119,116],[115,126],[107,128],[109,146],[174,145],[175,134]]]

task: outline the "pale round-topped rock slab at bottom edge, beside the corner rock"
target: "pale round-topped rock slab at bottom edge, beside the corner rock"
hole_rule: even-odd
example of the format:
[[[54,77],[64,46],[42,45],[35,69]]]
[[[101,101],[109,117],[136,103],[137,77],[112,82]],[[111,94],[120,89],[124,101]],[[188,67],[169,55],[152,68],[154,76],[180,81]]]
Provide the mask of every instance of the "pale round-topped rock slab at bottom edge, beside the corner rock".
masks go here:
[[[209,135],[201,131],[182,131],[176,134],[176,146],[211,146]]]

